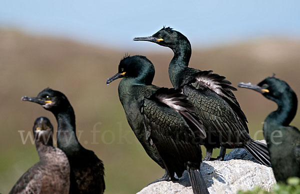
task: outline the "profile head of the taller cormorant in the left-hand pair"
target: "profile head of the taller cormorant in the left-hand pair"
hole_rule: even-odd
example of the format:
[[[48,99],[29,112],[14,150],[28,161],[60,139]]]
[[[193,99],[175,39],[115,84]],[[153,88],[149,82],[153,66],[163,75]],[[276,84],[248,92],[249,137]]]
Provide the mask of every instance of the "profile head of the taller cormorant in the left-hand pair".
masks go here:
[[[23,96],[21,100],[40,104],[44,109],[52,113],[59,112],[59,110],[68,108],[70,105],[63,93],[50,88],[43,89],[36,97]]]

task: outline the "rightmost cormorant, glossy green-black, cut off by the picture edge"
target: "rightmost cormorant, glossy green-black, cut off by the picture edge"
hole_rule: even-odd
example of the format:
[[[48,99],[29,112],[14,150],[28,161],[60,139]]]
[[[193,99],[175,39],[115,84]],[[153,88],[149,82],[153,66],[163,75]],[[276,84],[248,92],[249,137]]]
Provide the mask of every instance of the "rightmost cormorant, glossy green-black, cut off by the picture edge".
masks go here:
[[[257,85],[239,83],[274,101],[278,108],[263,123],[263,135],[267,142],[271,164],[277,182],[288,177],[300,178],[300,132],[289,126],[297,111],[297,96],[289,85],[278,78],[267,77]]]

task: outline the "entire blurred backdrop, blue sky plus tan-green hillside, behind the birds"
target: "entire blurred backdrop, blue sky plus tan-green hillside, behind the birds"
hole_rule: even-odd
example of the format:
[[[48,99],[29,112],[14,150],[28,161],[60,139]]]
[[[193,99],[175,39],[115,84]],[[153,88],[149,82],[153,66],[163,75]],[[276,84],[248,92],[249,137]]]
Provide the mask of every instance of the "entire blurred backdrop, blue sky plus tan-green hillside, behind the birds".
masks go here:
[[[190,67],[213,70],[233,86],[275,73],[300,96],[299,6],[297,0],[1,0],[0,193],[8,193],[38,161],[35,146],[29,139],[23,144],[20,131],[24,138],[31,134],[39,116],[57,128],[50,112],[20,100],[46,87],[63,92],[73,106],[79,142],[104,163],[105,194],[136,193],[163,175],[127,124],[118,100],[119,80],[105,84],[127,52],[147,56],[156,70],[153,84],[171,87],[172,51],[132,41],[163,25],[190,40]],[[251,137],[262,139],[261,122],[276,105],[250,90],[234,94]],[[299,114],[291,124],[300,127]],[[94,129],[99,131],[95,136]]]

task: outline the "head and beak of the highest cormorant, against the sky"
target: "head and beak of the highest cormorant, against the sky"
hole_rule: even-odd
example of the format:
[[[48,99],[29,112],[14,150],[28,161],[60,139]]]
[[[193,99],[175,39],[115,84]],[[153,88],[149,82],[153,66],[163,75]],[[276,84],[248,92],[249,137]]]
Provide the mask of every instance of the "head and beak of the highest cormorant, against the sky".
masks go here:
[[[175,49],[175,47],[180,43],[180,41],[183,41],[184,44],[188,44],[190,46],[188,39],[183,34],[173,30],[170,27],[163,27],[151,36],[135,37],[133,38],[133,40],[154,42],[156,44],[166,46],[171,49]]]

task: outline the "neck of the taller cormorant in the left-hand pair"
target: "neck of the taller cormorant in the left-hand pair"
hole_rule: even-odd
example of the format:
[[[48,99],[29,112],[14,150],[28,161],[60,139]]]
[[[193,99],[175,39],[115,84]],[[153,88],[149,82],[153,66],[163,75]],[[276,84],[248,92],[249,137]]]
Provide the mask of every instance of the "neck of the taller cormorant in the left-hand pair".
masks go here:
[[[67,156],[81,148],[75,133],[75,114],[71,105],[66,110],[59,111],[55,115],[57,127],[57,147]]]

